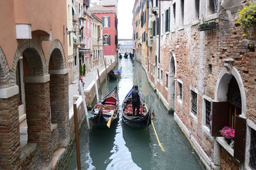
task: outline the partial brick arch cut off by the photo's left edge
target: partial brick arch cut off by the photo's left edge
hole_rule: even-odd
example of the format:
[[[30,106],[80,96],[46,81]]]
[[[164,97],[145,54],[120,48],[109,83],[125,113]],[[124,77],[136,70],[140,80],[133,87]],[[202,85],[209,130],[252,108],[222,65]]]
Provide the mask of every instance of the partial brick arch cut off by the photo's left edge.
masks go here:
[[[0,88],[8,87],[10,71],[4,52],[0,46]]]

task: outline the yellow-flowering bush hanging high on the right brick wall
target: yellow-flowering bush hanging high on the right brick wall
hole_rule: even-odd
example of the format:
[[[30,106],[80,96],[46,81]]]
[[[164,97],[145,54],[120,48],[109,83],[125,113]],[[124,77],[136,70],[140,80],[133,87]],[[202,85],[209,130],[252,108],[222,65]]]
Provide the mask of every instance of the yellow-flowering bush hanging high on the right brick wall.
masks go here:
[[[256,1],[252,1],[248,6],[244,6],[242,10],[239,11],[239,17],[237,22],[241,25],[243,32],[241,34],[246,36],[246,32],[250,30],[252,24],[256,23]]]

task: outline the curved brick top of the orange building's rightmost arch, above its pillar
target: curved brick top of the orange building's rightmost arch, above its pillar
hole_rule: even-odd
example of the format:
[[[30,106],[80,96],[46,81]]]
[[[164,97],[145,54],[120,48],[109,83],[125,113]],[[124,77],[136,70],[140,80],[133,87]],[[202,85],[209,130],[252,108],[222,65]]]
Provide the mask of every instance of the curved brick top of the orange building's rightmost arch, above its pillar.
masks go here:
[[[65,69],[65,63],[65,53],[63,50],[63,46],[58,39],[55,39],[54,41],[52,41],[51,47],[47,55],[46,67],[47,69],[49,69],[50,67],[52,67],[51,69]]]

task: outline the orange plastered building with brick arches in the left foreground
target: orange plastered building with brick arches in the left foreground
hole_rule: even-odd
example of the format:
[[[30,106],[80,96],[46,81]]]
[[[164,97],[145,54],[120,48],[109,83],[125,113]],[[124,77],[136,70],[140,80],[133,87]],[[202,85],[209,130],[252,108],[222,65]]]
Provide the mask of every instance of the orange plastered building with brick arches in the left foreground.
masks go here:
[[[51,167],[69,143],[67,2],[0,8],[0,169]]]

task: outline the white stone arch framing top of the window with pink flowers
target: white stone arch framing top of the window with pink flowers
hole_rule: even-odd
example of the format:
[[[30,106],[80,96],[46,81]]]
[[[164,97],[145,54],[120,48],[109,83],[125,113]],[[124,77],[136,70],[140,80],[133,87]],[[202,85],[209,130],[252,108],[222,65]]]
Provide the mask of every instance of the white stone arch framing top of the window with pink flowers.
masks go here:
[[[216,83],[215,89],[215,101],[227,101],[227,92],[228,92],[228,83],[231,80],[232,76],[236,78],[237,84],[239,86],[240,94],[241,94],[241,108],[242,115],[246,117],[246,94],[243,85],[243,80],[241,75],[237,71],[235,67],[232,67],[231,71],[228,71],[227,68],[223,68],[218,76],[218,80]]]

